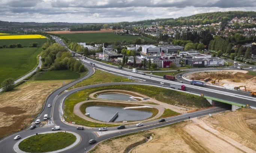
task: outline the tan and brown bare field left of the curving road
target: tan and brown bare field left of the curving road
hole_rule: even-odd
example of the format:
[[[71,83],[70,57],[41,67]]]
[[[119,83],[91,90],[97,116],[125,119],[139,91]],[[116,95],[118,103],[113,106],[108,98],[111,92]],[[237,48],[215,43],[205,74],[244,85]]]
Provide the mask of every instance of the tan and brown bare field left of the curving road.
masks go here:
[[[42,110],[47,96],[63,82],[72,80],[28,81],[0,95],[0,138],[30,126]]]

